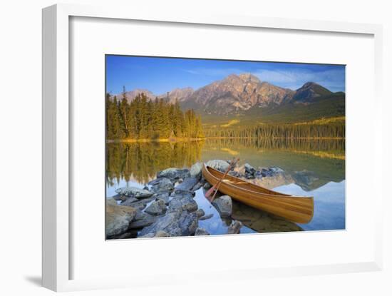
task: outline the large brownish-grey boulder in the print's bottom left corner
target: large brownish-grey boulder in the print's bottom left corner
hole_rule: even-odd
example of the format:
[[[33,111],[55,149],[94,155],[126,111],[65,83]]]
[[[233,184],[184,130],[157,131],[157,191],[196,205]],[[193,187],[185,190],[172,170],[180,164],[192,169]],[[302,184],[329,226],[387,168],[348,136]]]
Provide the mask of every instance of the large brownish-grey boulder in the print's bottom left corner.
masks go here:
[[[136,210],[134,208],[121,205],[106,205],[106,237],[110,238],[113,235],[125,233],[135,215]]]

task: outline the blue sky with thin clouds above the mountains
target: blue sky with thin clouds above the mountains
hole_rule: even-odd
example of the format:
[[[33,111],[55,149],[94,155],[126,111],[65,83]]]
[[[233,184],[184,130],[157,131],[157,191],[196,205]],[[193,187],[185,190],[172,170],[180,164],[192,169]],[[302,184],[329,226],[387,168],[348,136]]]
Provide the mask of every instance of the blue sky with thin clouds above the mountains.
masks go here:
[[[276,86],[300,88],[313,81],[330,91],[345,91],[345,67],[305,63],[220,61],[190,58],[106,56],[106,91],[143,88],[156,95],[173,88],[200,88],[230,74],[252,73]]]

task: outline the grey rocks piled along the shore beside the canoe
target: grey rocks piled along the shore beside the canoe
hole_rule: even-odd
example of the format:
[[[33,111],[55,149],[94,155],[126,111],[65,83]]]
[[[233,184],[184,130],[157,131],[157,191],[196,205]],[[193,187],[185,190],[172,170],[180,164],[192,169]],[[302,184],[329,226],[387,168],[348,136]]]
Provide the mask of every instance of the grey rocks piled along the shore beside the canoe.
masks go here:
[[[210,160],[207,165],[217,170],[229,168],[230,160]],[[229,171],[230,175],[254,183],[284,178],[284,170],[277,167],[258,168],[246,163]],[[117,195],[106,201],[106,238],[162,238],[190,235],[210,235],[199,221],[212,218],[205,215],[195,201],[195,191],[211,187],[202,178],[202,163],[188,169],[167,168],[157,173],[145,188],[125,187],[115,190]],[[222,219],[232,219],[227,234],[241,232],[243,223],[235,220],[233,201],[221,195],[212,202]],[[295,227],[289,230],[300,230]],[[287,230],[286,230],[287,231]]]

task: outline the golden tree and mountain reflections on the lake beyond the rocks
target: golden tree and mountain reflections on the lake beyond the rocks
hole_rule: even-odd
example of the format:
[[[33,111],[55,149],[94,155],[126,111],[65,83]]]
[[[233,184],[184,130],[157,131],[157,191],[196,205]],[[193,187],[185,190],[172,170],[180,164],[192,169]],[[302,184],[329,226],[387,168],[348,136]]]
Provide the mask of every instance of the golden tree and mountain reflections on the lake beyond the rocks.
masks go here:
[[[344,180],[343,140],[287,140],[257,138],[208,139],[178,143],[107,143],[108,185],[121,179],[148,183],[165,168],[189,168],[197,161],[231,159],[255,168],[275,165],[283,168],[288,180],[306,191],[331,181]],[[277,184],[277,185],[284,185]]]

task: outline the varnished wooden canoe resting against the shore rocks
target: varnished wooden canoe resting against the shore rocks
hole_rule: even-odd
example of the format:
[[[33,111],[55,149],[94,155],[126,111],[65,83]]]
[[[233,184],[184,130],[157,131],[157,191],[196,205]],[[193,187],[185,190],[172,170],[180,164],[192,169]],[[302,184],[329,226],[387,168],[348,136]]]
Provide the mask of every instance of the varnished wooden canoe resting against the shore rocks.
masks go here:
[[[202,174],[212,186],[224,175],[207,165],[203,165]],[[313,197],[278,193],[232,175],[226,175],[225,180],[220,184],[219,191],[252,208],[264,210],[295,223],[309,223],[313,218]]]

